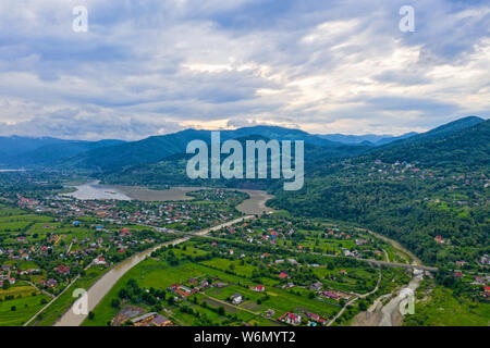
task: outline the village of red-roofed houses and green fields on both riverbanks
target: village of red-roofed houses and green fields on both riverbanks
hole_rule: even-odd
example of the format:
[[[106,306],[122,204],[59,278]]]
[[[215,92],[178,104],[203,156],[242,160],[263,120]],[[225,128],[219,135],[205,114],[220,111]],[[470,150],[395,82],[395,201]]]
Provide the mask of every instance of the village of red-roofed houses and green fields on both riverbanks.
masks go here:
[[[16,207],[4,206],[0,217],[0,287],[13,294],[1,300],[13,301],[11,311],[22,301],[36,301],[28,304],[33,311],[72,283],[91,284],[135,252],[242,215],[235,209],[242,192],[211,189],[189,196],[194,200],[146,202],[17,195]],[[434,243],[450,241],[436,237]],[[366,260],[411,262],[389,243],[351,225],[282,212],[255,215],[154,251],[84,325],[341,324],[375,295],[390,294],[412,276],[409,270]],[[480,262],[487,266],[488,256]],[[489,276],[468,272],[464,260],[456,262],[454,276],[488,297]],[[356,306],[346,307],[353,299]],[[342,309],[346,313],[336,319]],[[37,321],[52,323],[59,314],[48,310],[47,319]]]

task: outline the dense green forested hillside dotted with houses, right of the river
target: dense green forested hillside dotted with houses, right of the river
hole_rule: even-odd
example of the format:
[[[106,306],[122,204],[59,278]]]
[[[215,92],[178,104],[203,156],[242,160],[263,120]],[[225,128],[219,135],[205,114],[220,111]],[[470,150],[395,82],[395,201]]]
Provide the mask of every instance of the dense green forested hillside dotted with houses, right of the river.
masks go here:
[[[370,227],[430,264],[490,253],[490,121],[416,137],[319,164],[307,173],[303,190],[278,188],[271,203],[297,215]]]

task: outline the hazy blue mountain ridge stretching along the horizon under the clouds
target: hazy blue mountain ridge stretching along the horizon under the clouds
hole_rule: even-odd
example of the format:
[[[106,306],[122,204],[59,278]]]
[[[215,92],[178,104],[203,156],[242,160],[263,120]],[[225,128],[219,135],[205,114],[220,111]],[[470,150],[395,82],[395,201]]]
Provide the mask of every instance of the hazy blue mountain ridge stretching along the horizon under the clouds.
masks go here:
[[[234,130],[221,130],[221,141],[260,136],[278,140],[304,140],[309,161],[348,158],[368,153],[388,153],[393,146],[406,148],[444,137],[483,122],[468,116],[422,134],[407,133],[399,137],[313,135],[301,129],[259,125]],[[0,164],[9,166],[58,166],[97,172],[117,172],[118,169],[158,163],[172,157],[182,158],[189,141],[209,142],[211,130],[185,129],[137,141],[122,140],[63,140],[50,137],[0,137]],[[380,152],[381,151],[381,152]]]

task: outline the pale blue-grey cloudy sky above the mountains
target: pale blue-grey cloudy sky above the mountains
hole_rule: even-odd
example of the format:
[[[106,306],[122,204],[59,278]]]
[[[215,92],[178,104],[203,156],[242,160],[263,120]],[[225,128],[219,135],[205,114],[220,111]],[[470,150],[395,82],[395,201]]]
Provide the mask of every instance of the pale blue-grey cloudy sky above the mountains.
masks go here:
[[[469,114],[490,114],[488,0],[0,2],[0,135],[402,134]]]

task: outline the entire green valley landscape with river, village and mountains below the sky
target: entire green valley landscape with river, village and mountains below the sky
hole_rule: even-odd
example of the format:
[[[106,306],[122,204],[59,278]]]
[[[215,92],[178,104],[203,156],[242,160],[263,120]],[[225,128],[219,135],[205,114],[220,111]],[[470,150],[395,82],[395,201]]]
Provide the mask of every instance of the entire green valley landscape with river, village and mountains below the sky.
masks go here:
[[[303,139],[297,191],[186,177],[185,141],[208,136],[77,145],[1,172],[0,325],[488,325],[488,121],[369,146],[223,133]],[[401,315],[407,286],[415,313]]]

